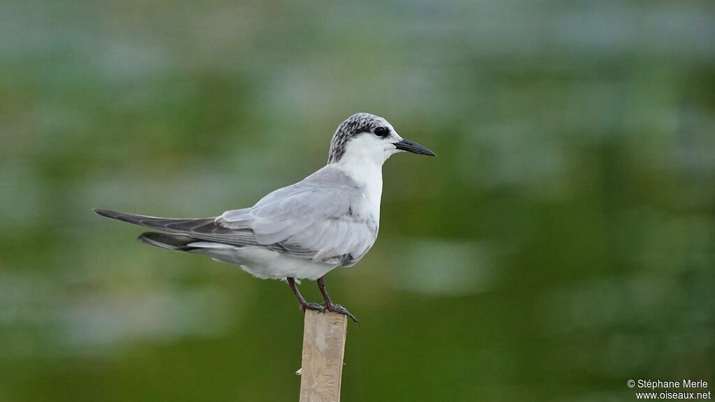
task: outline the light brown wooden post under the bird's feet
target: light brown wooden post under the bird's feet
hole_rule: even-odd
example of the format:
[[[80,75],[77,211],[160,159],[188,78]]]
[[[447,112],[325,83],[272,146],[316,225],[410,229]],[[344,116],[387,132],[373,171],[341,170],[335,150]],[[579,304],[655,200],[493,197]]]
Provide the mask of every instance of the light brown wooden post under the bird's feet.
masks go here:
[[[340,402],[347,317],[305,311],[300,402]]]

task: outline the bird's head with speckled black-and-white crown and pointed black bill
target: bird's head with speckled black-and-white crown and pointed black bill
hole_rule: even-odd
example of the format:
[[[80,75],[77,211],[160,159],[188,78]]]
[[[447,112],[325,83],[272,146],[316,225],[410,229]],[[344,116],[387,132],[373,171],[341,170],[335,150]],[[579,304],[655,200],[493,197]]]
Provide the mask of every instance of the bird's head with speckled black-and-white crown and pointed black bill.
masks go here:
[[[435,156],[435,153],[395,132],[382,117],[357,113],[340,123],[332,135],[327,162],[370,160],[380,165],[397,152]]]

